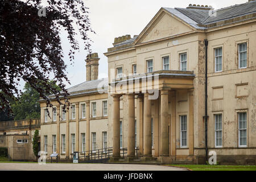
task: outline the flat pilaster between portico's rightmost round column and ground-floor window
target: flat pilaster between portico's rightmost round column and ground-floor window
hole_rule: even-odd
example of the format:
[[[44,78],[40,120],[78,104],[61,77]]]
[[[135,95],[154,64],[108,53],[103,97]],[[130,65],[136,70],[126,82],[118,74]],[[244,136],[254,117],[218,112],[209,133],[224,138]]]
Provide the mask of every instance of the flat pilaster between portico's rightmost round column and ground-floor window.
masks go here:
[[[176,91],[171,92],[171,155],[176,156]]]

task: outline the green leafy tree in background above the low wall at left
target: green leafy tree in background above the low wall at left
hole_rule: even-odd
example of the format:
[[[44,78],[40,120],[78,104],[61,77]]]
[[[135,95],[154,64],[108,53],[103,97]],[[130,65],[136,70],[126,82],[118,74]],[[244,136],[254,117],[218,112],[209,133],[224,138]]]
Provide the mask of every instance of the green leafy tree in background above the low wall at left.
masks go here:
[[[48,83],[56,90],[60,88],[55,84],[54,81]],[[52,94],[52,93],[49,93]],[[40,118],[40,105],[39,105],[39,93],[26,82],[24,86],[24,92],[20,97],[19,101],[15,101],[11,105],[15,120],[19,119],[39,119]]]

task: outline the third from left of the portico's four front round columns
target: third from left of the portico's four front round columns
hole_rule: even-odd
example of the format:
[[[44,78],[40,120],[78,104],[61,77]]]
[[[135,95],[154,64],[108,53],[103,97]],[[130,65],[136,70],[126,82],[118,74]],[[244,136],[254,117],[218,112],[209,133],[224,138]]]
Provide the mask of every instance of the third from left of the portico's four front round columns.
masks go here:
[[[151,100],[148,100],[148,93],[144,94],[144,115],[143,115],[143,156],[152,156],[151,143]]]

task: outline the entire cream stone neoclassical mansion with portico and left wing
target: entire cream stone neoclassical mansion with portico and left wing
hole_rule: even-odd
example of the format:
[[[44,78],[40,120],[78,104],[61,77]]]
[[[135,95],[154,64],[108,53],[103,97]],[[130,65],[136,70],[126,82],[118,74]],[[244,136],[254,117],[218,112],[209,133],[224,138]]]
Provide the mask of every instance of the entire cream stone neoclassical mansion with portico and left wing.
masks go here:
[[[215,151],[220,164],[255,164],[255,37],[256,1],[161,8],[141,34],[114,39],[107,79],[97,80],[97,54],[86,59],[67,112],[53,100],[49,118],[40,101],[41,148],[199,164]]]

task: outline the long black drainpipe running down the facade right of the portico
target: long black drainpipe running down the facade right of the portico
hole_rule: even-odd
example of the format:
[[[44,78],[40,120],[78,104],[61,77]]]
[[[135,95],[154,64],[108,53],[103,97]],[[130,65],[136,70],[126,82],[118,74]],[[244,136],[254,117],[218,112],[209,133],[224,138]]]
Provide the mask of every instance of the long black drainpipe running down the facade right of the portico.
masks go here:
[[[208,58],[208,40],[204,40],[204,45],[205,45],[205,162],[207,162],[208,159],[208,139],[207,139],[207,119],[208,119],[208,114],[207,114],[207,97],[208,97],[208,90],[207,90],[207,85],[208,85],[208,77],[207,77],[207,58]]]

